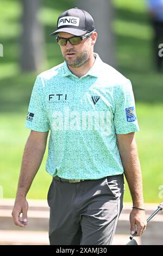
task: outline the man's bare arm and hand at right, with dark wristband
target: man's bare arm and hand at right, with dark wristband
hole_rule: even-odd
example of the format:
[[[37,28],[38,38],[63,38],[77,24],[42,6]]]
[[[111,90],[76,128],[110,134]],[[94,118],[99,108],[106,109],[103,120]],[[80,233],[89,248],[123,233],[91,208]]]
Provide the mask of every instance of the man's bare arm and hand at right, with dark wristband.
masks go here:
[[[136,208],[143,207],[143,191],[142,191],[142,176],[137,147],[135,142],[135,133],[130,132],[124,135],[117,135],[118,149],[120,151],[124,175],[128,182],[133,206]],[[130,230],[131,234],[140,236],[146,229],[145,211],[133,209],[130,212]]]

